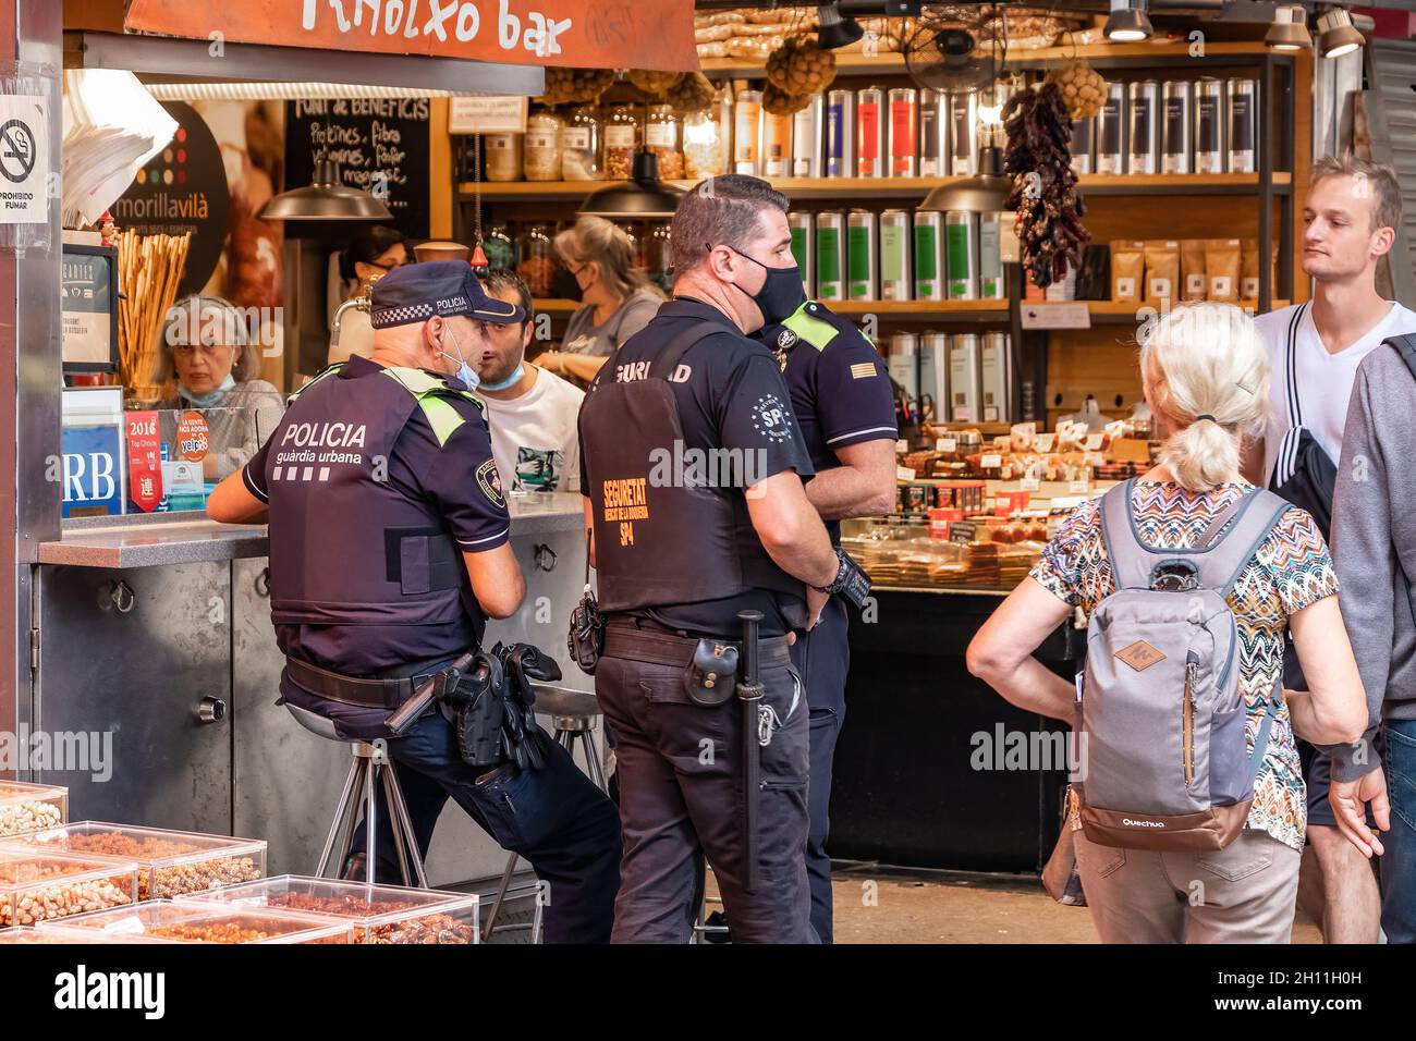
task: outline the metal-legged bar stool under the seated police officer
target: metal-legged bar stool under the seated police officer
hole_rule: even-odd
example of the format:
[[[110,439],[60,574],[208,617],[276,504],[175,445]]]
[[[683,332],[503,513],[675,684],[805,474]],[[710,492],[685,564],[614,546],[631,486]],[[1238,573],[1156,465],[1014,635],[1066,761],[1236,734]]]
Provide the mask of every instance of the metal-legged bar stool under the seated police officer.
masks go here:
[[[404,878],[404,885],[428,888],[428,875],[423,872],[423,860],[418,851],[418,836],[413,833],[413,821],[408,816],[408,804],[404,802],[404,789],[398,783],[398,773],[394,761],[388,758],[388,744],[379,741],[348,741],[334,731],[334,724],[323,715],[316,715],[307,710],[286,702],[302,727],[312,734],[319,734],[330,741],[346,741],[350,746],[350,772],[344,778],[344,790],[334,807],[334,820],[330,821],[330,833],[324,840],[324,850],[320,853],[320,865],[314,870],[316,878],[324,878],[330,867],[330,855],[334,853],[334,843],[343,834],[340,844],[338,870],[348,861],[350,847],[354,844],[354,829],[358,824],[362,807],[365,827],[365,881],[374,884],[374,872],[378,864],[378,787],[384,787],[384,800],[388,812],[394,817],[394,848],[398,854],[398,870]]]

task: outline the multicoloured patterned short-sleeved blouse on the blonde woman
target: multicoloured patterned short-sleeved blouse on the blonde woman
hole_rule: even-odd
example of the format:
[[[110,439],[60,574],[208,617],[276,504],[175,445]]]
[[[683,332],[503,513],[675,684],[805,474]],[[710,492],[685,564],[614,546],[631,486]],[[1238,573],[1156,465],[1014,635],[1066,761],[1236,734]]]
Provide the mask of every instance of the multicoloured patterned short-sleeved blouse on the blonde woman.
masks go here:
[[[1211,491],[1188,491],[1165,482],[1137,482],[1131,510],[1141,540],[1153,550],[1189,548],[1212,517],[1250,486],[1221,484]],[[1116,592],[1112,565],[1102,537],[1099,500],[1083,503],[1048,542],[1032,578],[1087,615]],[[1239,629],[1239,688],[1249,707],[1247,742],[1253,749],[1260,712],[1283,671],[1283,635],[1289,615],[1324,596],[1337,595],[1337,572],[1327,542],[1313,517],[1298,508],[1286,511],[1229,593]],[[1269,748],[1255,782],[1253,807],[1246,827],[1262,829],[1284,846],[1303,848],[1307,799],[1298,751],[1293,744],[1289,705],[1274,712]]]

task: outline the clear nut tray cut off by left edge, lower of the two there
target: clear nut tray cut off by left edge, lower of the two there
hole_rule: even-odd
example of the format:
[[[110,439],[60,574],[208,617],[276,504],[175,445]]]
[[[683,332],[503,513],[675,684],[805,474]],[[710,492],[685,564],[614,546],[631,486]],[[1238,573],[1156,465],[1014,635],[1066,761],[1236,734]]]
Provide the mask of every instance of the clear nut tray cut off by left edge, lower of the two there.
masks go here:
[[[0,850],[0,929],[132,904],[136,889],[132,863]]]

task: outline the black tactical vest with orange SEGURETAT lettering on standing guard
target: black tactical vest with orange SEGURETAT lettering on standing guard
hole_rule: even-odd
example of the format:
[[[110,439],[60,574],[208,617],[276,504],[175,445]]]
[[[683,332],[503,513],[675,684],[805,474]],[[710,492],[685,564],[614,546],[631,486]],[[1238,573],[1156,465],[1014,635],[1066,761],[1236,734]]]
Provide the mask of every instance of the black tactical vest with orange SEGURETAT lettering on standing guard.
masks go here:
[[[650,323],[641,336],[654,336]],[[712,333],[701,323],[660,351],[640,378],[619,378],[616,351],[581,406],[581,440],[595,511],[595,562],[602,610],[630,610],[736,596],[749,589],[803,595],[756,534],[739,531],[742,487],[688,486],[668,465],[684,443],[670,381],[688,350]],[[666,456],[667,453],[667,456]]]

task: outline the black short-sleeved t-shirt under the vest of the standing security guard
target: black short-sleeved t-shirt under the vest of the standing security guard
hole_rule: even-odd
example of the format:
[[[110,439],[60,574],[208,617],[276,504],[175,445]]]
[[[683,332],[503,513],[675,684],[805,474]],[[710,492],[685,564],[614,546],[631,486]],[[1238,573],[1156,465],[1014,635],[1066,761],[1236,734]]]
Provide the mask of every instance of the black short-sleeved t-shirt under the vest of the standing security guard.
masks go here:
[[[758,457],[765,466],[758,467],[758,480],[783,470],[796,470],[803,480],[809,479],[814,473],[811,459],[790,416],[790,394],[776,360],[762,344],[745,337],[716,307],[690,297],[670,300],[641,333],[626,341],[605,364],[649,363],[674,337],[701,322],[716,323],[722,331],[698,341],[688,351],[685,360],[692,363],[692,371],[687,381],[670,381],[683,425],[684,449],[738,449],[743,456],[760,452]],[[613,378],[615,371],[606,371],[603,377]],[[789,414],[784,425],[779,419],[783,412]],[[581,489],[589,487],[582,439]],[[732,508],[739,540],[756,540],[748,501],[741,491],[732,496]],[[691,554],[692,547],[685,545],[684,552]],[[670,629],[731,639],[741,633],[738,612],[753,609],[762,612],[762,636],[783,636],[789,629],[783,609],[790,609],[787,602],[792,599],[770,589],[750,589],[716,601],[663,605],[629,613]],[[796,606],[800,610],[800,603]]]

